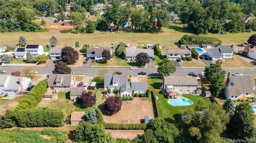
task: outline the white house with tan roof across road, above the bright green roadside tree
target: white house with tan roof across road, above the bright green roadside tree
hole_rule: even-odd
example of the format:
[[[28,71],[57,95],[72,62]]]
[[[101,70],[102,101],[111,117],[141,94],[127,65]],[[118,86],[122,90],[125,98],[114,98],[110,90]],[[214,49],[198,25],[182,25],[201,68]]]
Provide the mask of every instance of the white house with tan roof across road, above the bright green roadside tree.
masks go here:
[[[190,57],[192,55],[191,51],[188,49],[167,49],[166,57],[168,57],[171,61],[177,60],[182,57]]]

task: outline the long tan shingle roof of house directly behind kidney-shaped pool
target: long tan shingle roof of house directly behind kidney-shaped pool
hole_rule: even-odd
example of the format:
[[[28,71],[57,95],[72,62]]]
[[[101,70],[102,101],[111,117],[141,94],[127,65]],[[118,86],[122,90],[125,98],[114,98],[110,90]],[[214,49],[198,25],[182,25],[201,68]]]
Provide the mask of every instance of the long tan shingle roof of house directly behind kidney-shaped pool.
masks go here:
[[[165,85],[198,85],[196,77],[174,77],[174,76],[165,76],[164,77]]]

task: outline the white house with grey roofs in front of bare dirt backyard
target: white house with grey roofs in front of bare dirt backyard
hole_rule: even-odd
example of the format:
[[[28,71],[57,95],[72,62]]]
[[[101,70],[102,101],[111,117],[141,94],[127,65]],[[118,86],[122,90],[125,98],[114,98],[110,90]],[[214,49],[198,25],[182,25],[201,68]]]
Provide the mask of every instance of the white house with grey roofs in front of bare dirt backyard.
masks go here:
[[[122,74],[107,74],[104,76],[104,90],[111,89],[111,93],[114,88],[120,89],[122,96],[132,96],[132,90],[134,93],[146,93],[146,82],[128,82],[128,76]]]

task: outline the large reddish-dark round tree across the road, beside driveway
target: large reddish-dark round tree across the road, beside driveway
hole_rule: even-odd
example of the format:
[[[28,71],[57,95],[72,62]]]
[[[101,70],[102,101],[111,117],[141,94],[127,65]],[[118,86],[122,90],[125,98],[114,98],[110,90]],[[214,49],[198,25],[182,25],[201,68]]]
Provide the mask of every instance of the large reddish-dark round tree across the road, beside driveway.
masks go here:
[[[61,49],[62,61],[68,65],[76,63],[79,58],[78,52],[72,47],[64,47]]]

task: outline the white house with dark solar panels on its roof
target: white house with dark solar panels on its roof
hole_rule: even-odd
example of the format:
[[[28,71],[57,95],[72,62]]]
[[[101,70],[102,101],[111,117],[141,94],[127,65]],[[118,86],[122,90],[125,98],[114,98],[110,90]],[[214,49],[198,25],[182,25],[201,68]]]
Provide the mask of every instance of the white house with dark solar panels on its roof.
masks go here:
[[[26,45],[26,47],[18,47],[14,53],[15,59],[26,59],[26,54],[30,52],[33,57],[44,54],[42,45]]]

